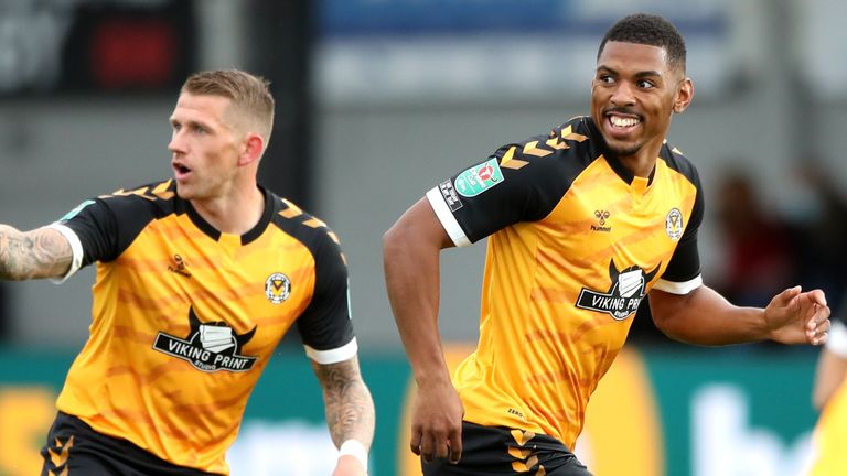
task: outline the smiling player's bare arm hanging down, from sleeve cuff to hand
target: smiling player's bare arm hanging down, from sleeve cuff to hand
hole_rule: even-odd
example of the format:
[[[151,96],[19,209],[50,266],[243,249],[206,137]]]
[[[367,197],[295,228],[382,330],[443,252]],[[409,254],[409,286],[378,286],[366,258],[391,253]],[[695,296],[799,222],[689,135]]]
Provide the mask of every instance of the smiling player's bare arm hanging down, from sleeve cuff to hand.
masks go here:
[[[388,301],[418,385],[409,446],[424,461],[462,455],[464,409],[441,349],[438,332],[439,256],[453,246],[426,198],[418,201],[383,238]]]

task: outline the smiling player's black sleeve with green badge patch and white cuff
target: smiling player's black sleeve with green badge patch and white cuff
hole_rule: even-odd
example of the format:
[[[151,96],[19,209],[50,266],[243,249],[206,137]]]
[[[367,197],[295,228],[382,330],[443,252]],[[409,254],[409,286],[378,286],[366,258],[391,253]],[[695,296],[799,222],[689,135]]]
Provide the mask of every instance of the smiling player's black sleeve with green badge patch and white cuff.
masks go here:
[[[518,221],[537,221],[553,212],[582,166],[569,156],[524,154],[527,143],[548,140],[534,139],[504,145],[427,192],[455,246],[471,245]]]

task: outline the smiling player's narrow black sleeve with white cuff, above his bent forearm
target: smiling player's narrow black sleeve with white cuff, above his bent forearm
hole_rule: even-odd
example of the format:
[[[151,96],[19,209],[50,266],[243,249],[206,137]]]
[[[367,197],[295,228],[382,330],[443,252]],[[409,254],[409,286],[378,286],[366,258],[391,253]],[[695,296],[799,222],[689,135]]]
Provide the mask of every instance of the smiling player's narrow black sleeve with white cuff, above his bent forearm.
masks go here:
[[[679,238],[679,244],[671,257],[664,274],[656,282],[654,289],[673,294],[687,294],[703,285],[700,275],[700,252],[697,247],[697,231],[703,223],[704,199],[703,187],[697,174],[693,176],[697,187],[697,196],[691,208],[691,217],[685,227],[685,232]]]

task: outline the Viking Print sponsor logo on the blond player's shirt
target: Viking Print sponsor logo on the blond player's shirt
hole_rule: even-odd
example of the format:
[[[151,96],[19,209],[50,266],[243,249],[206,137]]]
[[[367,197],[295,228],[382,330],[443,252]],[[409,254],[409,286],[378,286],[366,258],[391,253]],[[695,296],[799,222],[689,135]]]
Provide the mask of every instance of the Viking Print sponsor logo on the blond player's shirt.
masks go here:
[[[153,348],[170,356],[183,359],[197,370],[213,372],[218,370],[247,371],[253,368],[258,357],[243,356],[238,350],[256,334],[253,327],[247,334],[238,335],[224,322],[204,324],[189,310],[191,329],[184,339],[159,333]]]

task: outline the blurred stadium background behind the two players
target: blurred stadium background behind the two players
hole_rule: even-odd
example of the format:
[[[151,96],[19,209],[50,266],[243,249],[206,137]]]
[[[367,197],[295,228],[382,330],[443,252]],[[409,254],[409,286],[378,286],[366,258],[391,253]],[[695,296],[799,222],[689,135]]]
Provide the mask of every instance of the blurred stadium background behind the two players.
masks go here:
[[[838,0],[0,0],[0,223],[30,229],[89,196],[167,176],[168,116],[189,73],[268,77],[278,111],[262,181],[330,223],[350,260],[377,404],[371,474],[416,474],[382,234],[497,145],[588,113],[597,45],[633,11],[668,17],[688,43],[695,101],[669,140],[706,186],[706,281],[749,304],[795,281],[822,286],[838,312]],[[451,358],[476,335],[483,253],[483,244],[444,253]],[[53,400],[87,336],[93,278],[88,269],[60,286],[0,283],[2,476],[37,470]],[[600,476],[798,474],[816,419],[816,356],[686,347],[640,315],[577,453]],[[297,336],[278,360],[248,408],[233,474],[329,474],[320,392]]]

